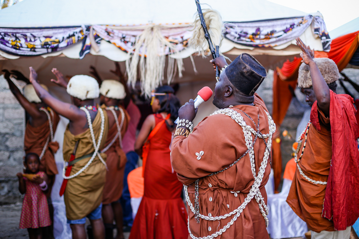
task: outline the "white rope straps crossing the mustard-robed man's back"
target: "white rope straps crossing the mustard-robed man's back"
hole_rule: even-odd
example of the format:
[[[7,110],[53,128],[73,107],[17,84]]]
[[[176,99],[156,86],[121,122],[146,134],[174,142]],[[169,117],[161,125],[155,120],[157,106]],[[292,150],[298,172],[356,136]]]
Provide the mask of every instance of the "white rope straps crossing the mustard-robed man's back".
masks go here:
[[[93,143],[93,147],[95,149],[95,152],[93,153],[91,159],[87,162],[87,164],[81,168],[77,173],[75,173],[74,175],[71,175],[71,176],[65,176],[65,162],[64,162],[64,168],[62,168],[62,177],[64,179],[71,179],[71,178],[74,178],[76,176],[78,176],[80,173],[82,173],[86,168],[88,168],[88,166],[90,166],[90,164],[92,163],[92,161],[95,159],[96,155],[98,156],[98,158],[100,159],[100,161],[103,163],[103,165],[106,167],[106,170],[107,169],[107,165],[106,165],[106,162],[102,159],[101,155],[99,154],[99,148],[100,148],[100,144],[101,144],[101,140],[102,140],[102,136],[103,136],[103,132],[104,132],[104,125],[105,125],[105,117],[103,115],[103,111],[101,108],[98,108],[98,111],[101,115],[101,132],[100,132],[100,135],[98,137],[98,142],[97,142],[97,145],[96,145],[96,139],[95,139],[95,134],[93,133],[93,127],[92,127],[92,122],[91,122],[91,116],[90,116],[90,113],[89,111],[85,108],[85,107],[80,107],[81,110],[85,111],[86,115],[87,115],[87,121],[88,121],[88,124],[89,124],[89,129],[90,129],[90,133],[91,133],[91,139],[92,139],[92,143]]]

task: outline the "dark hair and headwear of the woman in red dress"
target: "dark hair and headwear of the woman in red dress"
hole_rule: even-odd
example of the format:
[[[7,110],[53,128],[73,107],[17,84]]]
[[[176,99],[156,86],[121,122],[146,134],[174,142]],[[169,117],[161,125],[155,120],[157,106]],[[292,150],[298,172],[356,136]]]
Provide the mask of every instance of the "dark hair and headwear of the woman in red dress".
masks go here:
[[[166,93],[166,95],[156,95],[155,98],[159,100],[161,108],[158,113],[166,112],[171,114],[171,120],[174,122],[178,117],[178,110],[180,109],[180,100],[174,95],[174,90],[171,86],[160,86],[155,90],[155,93]]]

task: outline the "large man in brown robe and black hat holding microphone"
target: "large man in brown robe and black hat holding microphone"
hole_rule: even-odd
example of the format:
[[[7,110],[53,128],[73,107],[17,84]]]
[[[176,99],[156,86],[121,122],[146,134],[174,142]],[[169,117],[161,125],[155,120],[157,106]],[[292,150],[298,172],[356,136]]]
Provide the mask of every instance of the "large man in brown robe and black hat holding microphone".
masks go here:
[[[224,57],[211,62],[219,67],[226,64]],[[178,111],[172,167],[185,185],[189,238],[269,238],[264,186],[275,124],[255,94],[266,76],[256,59],[242,53],[223,69],[216,83],[213,104],[219,110],[188,137],[188,121],[196,115],[194,101]]]

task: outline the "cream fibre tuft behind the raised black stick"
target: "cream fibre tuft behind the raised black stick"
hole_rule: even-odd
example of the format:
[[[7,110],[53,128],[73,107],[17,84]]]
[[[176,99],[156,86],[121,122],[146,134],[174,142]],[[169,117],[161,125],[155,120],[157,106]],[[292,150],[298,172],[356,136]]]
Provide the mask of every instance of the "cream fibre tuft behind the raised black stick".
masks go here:
[[[203,18],[206,22],[207,29],[209,32],[209,35],[211,37],[212,43],[215,46],[220,46],[223,36],[222,36],[222,16],[219,14],[218,11],[213,9],[202,9]],[[199,49],[199,54],[203,57],[208,56],[209,46],[206,38],[204,37],[204,31],[201,26],[201,20],[198,15],[196,15],[196,20],[193,24],[193,35],[190,39],[188,39],[188,44],[195,48]]]

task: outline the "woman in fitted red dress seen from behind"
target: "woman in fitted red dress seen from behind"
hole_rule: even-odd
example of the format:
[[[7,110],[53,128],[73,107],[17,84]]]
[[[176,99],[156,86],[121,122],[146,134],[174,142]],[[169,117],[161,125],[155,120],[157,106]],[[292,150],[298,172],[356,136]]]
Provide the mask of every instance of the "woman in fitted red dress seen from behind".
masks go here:
[[[182,184],[173,171],[170,159],[174,120],[180,102],[170,86],[158,87],[152,94],[155,114],[144,121],[135,149],[149,148],[144,159],[144,195],[135,217],[130,239],[187,239],[187,211],[181,198]],[[156,127],[157,126],[157,127]]]

